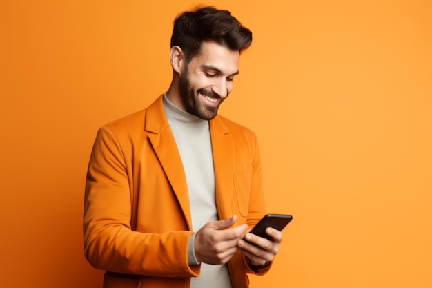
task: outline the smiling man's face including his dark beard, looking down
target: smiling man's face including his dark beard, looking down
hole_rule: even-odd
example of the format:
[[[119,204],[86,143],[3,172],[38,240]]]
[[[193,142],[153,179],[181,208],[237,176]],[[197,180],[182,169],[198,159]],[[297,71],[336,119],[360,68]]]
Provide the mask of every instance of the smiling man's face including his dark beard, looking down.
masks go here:
[[[204,42],[201,52],[186,64],[180,75],[182,108],[201,119],[213,119],[219,105],[233,90],[239,59],[239,51]]]

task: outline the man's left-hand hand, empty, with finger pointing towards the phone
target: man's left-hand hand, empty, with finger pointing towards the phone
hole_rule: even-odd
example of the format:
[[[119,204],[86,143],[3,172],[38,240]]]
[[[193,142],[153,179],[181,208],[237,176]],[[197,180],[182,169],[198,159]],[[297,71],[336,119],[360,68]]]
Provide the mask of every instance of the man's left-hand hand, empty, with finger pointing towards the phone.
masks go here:
[[[195,235],[195,256],[199,262],[207,264],[225,264],[237,251],[237,242],[248,228],[246,224],[233,229],[237,216],[229,219],[212,221],[199,229]]]

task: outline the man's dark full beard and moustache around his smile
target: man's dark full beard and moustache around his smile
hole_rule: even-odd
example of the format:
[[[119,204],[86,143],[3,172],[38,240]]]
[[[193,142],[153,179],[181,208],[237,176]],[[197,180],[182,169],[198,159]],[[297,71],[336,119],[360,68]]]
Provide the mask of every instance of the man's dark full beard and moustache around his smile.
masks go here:
[[[181,102],[183,102],[186,111],[204,120],[211,120],[216,117],[217,110],[220,104],[222,104],[225,99],[209,89],[202,88],[195,91],[189,81],[187,66],[184,70],[184,73],[181,74],[179,78],[179,91],[181,96]],[[199,94],[219,98],[219,104],[217,106],[206,106],[199,101],[202,97]]]

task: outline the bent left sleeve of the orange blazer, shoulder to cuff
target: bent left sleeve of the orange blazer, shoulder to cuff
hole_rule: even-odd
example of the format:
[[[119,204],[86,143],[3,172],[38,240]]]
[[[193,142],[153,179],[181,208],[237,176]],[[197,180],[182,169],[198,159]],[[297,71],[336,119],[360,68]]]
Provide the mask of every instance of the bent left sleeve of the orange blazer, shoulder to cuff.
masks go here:
[[[199,265],[188,265],[191,231],[132,231],[132,180],[127,162],[110,128],[99,129],[88,165],[84,198],[84,251],[88,262],[97,269],[117,273],[199,276]]]

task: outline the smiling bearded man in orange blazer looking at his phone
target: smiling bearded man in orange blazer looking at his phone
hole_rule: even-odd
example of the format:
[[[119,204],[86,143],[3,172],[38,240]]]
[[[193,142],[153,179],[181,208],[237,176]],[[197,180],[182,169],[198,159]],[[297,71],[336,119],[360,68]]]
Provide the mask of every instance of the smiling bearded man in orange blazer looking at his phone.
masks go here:
[[[217,115],[251,41],[228,11],[184,12],[168,91],[99,130],[84,247],[104,287],[248,287],[270,268],[282,233],[246,233],[266,212],[255,134]]]

